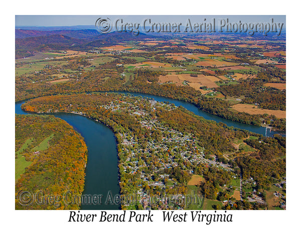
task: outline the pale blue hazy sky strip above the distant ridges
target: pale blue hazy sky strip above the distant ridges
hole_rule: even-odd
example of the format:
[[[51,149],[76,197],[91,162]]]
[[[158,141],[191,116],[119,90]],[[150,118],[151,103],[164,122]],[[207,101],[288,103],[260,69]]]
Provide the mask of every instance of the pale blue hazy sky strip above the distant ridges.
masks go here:
[[[203,22],[204,18],[210,21],[215,18],[229,18],[229,21],[242,22],[269,22],[273,18],[274,22],[284,23],[285,15],[16,15],[16,26],[74,26],[74,25],[94,25],[99,17],[109,17],[112,21],[122,18],[123,21],[141,23],[143,19],[150,18],[152,22]]]

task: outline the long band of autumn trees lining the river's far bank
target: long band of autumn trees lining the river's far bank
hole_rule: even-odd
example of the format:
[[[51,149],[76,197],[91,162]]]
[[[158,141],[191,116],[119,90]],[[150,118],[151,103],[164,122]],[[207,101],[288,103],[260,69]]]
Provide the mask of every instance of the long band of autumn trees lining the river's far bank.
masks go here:
[[[119,71],[120,69],[118,70],[118,72]],[[56,84],[53,85],[47,82],[28,83],[26,85],[24,85],[24,83],[16,84],[16,101],[25,100],[32,97],[62,93],[72,94],[80,92],[100,91],[129,91],[138,93],[140,92],[186,101],[196,105],[198,108],[205,112],[217,115],[228,120],[233,120],[256,126],[260,126],[263,122],[270,122],[270,126],[281,130],[285,130],[285,118],[278,119],[275,116],[267,114],[249,114],[245,112],[233,112],[231,111],[231,104],[229,102],[221,98],[205,97],[200,91],[190,86],[176,86],[175,84],[158,83],[159,75],[163,74],[163,72],[160,71],[153,71],[152,73],[149,73],[149,71],[147,70],[136,70],[136,72],[134,72],[134,80],[128,80],[126,82],[122,77],[117,75],[110,75],[110,79],[99,80],[92,78],[95,76],[94,74],[96,74],[96,72],[93,72],[92,75],[90,72],[86,74],[90,75],[85,76],[86,78],[91,78],[91,81],[88,85],[84,84],[84,81],[78,81],[75,79],[70,79],[68,82],[60,83],[60,87],[58,87]],[[150,80],[150,74],[154,74],[155,80],[148,83]],[[27,81],[26,79],[24,80]],[[232,85],[230,87],[235,86]],[[228,88],[226,89],[230,91]],[[238,93],[230,92],[227,94],[230,94],[231,96],[231,94]]]

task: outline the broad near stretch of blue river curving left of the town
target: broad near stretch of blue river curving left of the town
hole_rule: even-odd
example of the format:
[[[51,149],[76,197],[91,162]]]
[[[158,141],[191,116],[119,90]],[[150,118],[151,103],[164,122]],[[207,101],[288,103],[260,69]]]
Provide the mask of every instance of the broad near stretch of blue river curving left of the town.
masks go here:
[[[29,114],[21,109],[23,102],[15,104],[15,112],[18,114]],[[117,143],[112,130],[102,123],[79,114],[62,112],[51,114],[72,125],[84,137],[88,147],[88,162],[85,170],[86,177],[83,195],[86,197],[94,195],[95,199],[97,199],[95,202],[97,204],[82,204],[81,209],[119,209],[119,204],[106,204],[111,203],[109,201],[110,198],[106,201],[108,196],[112,195],[114,197],[115,194],[120,192]]]

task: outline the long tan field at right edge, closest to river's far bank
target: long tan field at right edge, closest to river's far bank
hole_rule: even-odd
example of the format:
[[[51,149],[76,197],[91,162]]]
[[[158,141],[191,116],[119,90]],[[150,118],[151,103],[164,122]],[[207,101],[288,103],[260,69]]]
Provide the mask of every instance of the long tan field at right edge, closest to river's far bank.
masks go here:
[[[286,117],[286,111],[261,109],[261,108],[257,108],[256,105],[251,105],[251,104],[238,103],[238,104],[233,105],[232,109],[235,109],[236,111],[239,111],[239,112],[246,112],[246,113],[249,113],[249,114],[264,114],[264,113],[266,113],[266,114],[269,114],[269,115],[275,115],[278,118],[285,118]]]

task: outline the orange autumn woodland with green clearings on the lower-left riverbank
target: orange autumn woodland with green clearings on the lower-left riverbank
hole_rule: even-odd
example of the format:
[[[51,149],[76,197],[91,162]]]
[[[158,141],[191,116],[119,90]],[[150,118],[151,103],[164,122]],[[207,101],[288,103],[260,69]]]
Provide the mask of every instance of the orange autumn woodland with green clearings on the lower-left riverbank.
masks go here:
[[[30,163],[16,182],[16,209],[79,209],[78,202],[63,196],[72,199],[84,189],[87,146],[83,137],[53,115],[16,114],[15,120],[16,152]],[[26,193],[30,198],[24,198]]]

